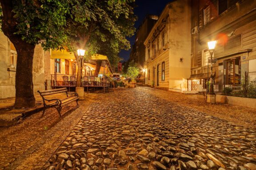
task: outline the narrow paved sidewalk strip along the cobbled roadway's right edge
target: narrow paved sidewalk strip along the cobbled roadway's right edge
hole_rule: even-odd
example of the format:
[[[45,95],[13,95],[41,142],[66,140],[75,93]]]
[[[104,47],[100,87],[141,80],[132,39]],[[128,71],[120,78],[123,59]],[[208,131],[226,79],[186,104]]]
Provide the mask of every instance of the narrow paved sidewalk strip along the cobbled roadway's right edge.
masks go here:
[[[237,125],[248,128],[256,127],[256,109],[244,108],[230,104],[207,103],[204,95],[199,94],[184,94],[160,89],[152,89],[149,87],[136,87],[136,89],[142,90],[145,93],[149,93],[153,96],[175,102],[177,104],[182,104],[189,108],[196,108],[200,112],[205,112],[208,115],[231,121]]]

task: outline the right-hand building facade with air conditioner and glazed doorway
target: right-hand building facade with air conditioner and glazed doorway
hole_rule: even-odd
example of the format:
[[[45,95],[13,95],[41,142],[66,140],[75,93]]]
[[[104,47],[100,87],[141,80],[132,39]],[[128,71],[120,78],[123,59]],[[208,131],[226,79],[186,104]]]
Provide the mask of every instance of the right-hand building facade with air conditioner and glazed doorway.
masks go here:
[[[192,60],[188,91],[206,91],[210,57],[207,42],[217,40],[213,54],[214,91],[241,89],[245,72],[256,80],[256,1],[193,0]]]

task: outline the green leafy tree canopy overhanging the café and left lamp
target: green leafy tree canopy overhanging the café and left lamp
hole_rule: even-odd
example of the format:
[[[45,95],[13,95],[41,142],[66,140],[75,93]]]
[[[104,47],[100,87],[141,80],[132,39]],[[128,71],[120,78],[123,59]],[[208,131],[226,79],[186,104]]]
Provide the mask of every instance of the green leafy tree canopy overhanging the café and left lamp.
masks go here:
[[[70,51],[84,48],[87,56],[100,52],[116,64],[120,61],[120,50],[130,48],[126,37],[131,37],[135,31],[134,0],[0,2],[12,8],[13,34],[31,44],[41,43],[44,50],[63,49],[64,46]],[[3,14],[8,15],[11,11],[3,11]]]

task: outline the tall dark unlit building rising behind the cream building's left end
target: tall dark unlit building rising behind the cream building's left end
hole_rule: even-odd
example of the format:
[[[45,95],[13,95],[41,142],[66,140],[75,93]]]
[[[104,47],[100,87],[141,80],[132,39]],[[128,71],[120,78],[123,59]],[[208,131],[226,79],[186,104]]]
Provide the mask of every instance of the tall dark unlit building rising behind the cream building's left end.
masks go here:
[[[143,43],[157,19],[157,15],[147,15],[140,24],[140,27],[136,30],[136,38],[135,43],[132,46],[130,60],[133,60],[138,65],[140,70],[144,68],[145,63],[145,47]]]

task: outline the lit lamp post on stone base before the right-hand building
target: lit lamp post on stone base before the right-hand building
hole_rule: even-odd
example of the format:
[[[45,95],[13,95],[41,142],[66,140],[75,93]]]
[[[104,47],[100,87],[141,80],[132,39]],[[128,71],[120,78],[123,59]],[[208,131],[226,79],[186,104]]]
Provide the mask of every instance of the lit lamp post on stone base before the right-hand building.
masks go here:
[[[213,90],[213,77],[212,77],[212,55],[213,55],[214,49],[216,47],[216,44],[217,44],[216,40],[215,41],[207,42],[208,51],[209,51],[210,56],[211,56],[210,90],[209,90],[209,95],[207,97],[207,102],[208,103],[215,103],[215,93],[214,93],[214,90]]]

